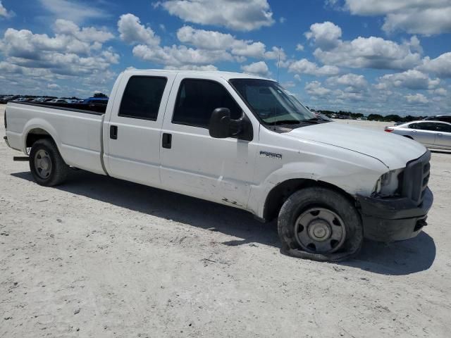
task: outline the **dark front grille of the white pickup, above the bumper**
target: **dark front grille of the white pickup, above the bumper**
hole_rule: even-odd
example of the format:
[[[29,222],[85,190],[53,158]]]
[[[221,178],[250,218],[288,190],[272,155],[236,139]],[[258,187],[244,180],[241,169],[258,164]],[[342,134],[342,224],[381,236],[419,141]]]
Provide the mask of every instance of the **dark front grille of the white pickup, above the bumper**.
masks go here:
[[[417,206],[423,203],[428,187],[431,170],[429,161],[431,161],[431,151],[426,151],[420,158],[408,162],[404,170],[402,196],[412,199]]]

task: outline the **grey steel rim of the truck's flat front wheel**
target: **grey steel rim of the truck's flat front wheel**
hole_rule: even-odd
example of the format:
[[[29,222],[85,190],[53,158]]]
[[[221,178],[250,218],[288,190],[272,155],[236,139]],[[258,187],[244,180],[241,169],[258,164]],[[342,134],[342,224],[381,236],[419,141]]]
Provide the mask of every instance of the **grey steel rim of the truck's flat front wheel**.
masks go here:
[[[297,243],[310,253],[333,253],[346,239],[345,223],[326,208],[310,208],[296,220]]]

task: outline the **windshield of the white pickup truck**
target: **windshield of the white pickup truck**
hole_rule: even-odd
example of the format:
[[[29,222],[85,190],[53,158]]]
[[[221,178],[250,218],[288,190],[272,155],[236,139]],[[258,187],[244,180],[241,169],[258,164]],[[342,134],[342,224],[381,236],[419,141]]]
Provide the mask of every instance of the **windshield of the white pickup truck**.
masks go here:
[[[267,125],[290,125],[315,119],[307,108],[288,95],[277,82],[233,79],[230,83]]]

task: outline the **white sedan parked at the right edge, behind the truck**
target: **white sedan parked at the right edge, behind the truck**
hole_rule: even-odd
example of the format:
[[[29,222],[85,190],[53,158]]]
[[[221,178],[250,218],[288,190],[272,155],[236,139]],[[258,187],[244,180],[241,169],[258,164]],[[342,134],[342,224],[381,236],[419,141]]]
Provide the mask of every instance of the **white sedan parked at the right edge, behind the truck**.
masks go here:
[[[421,120],[385,127],[385,132],[402,135],[429,148],[451,149],[451,123]]]

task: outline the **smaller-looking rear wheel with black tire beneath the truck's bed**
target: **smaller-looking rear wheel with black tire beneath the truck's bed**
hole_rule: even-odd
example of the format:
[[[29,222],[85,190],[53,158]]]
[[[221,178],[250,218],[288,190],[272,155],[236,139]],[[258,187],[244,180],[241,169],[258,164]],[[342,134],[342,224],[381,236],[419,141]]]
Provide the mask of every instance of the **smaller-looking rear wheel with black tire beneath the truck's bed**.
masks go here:
[[[43,161],[41,154],[45,157],[44,164],[39,162]],[[43,167],[46,169],[44,172]],[[38,139],[31,147],[30,170],[37,184],[53,187],[66,180],[69,166],[63,161],[56,144],[51,139]]]

